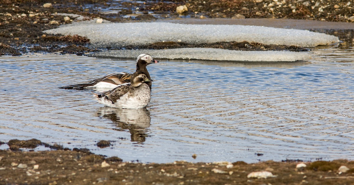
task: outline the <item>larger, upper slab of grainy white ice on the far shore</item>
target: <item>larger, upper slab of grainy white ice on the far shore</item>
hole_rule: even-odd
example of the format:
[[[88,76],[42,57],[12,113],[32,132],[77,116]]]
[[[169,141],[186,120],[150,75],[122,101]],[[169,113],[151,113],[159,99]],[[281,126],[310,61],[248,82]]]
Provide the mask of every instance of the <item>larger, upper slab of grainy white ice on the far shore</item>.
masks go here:
[[[94,47],[121,47],[178,40],[186,43],[258,42],[263,44],[315,47],[339,42],[338,37],[308,30],[245,25],[175,23],[80,22],[44,31],[48,34],[86,36]]]

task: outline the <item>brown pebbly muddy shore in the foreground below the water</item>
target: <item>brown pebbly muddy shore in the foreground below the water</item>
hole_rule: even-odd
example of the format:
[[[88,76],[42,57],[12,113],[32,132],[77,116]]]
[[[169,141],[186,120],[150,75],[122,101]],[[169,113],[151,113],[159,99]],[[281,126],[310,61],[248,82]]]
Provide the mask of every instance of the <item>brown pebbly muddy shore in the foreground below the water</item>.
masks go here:
[[[14,139],[7,144],[10,149],[0,150],[0,184],[348,184],[354,178],[354,161],[348,160],[158,164],[122,161],[37,139]],[[48,150],[21,151],[39,145]],[[252,172],[267,175],[251,177]]]

